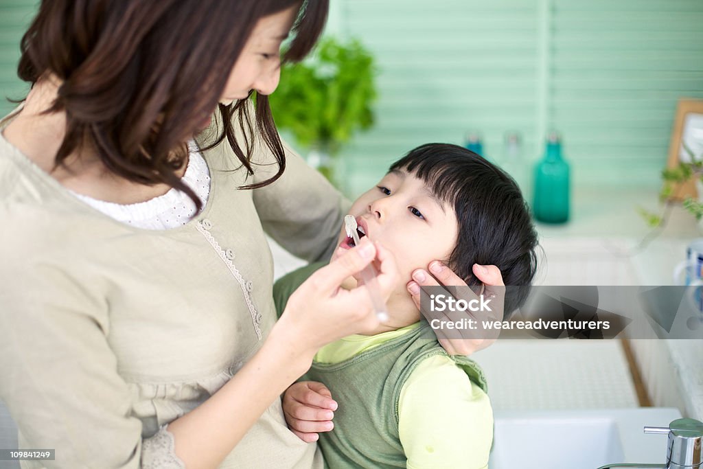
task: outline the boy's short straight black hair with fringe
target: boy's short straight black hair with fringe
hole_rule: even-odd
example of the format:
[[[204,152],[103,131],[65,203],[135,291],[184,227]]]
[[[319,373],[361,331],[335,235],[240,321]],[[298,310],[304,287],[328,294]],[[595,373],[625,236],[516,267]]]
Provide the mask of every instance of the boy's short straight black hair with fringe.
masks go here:
[[[427,143],[394,162],[425,182],[454,207],[458,238],[446,264],[467,285],[481,285],[473,264],[501,269],[505,317],[522,306],[537,266],[537,233],[520,188],[502,169],[477,153],[449,143]]]

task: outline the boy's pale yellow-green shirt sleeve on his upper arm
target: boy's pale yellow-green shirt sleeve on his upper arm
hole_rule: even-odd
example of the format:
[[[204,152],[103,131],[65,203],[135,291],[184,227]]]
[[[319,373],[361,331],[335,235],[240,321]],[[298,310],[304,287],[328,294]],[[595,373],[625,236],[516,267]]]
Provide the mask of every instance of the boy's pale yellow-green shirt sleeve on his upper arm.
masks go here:
[[[418,364],[401,390],[398,415],[408,469],[487,467],[491,401],[448,356]]]

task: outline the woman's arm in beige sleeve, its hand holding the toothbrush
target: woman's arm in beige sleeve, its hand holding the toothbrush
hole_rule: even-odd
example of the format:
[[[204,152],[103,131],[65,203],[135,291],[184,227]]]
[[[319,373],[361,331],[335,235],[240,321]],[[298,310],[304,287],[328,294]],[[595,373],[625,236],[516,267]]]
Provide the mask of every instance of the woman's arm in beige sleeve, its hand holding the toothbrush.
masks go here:
[[[393,259],[361,243],[292,295],[262,348],[228,383],[169,423],[175,454],[187,468],[217,467],[319,347],[378,326],[365,290],[338,288],[374,257],[389,295],[398,281]],[[0,397],[27,444],[55,448],[59,468],[140,468],[157,459],[142,454],[153,448],[143,444],[141,422],[131,416],[131,394],[107,340],[105,304],[59,269],[25,270],[12,279],[8,269],[0,271]]]

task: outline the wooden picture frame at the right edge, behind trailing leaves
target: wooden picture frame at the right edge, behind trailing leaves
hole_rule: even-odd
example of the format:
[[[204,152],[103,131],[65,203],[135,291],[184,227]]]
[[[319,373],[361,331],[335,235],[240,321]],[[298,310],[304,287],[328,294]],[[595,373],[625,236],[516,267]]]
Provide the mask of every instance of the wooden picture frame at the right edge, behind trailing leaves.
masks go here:
[[[690,155],[683,148],[684,142],[695,155],[703,155],[703,99],[678,100],[669,143],[669,159],[666,162],[668,169],[678,167],[679,162],[690,162]],[[695,176],[685,183],[674,184],[671,192],[673,200],[685,200],[689,197],[698,197]]]

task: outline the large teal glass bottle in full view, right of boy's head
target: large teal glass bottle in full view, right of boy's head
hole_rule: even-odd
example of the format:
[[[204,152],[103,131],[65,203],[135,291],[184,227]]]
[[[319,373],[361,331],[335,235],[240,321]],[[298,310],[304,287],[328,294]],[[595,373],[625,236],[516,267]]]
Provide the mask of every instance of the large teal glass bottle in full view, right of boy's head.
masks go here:
[[[547,137],[543,160],[534,170],[532,212],[543,223],[569,220],[569,165],[562,155],[562,142],[556,132]]]

